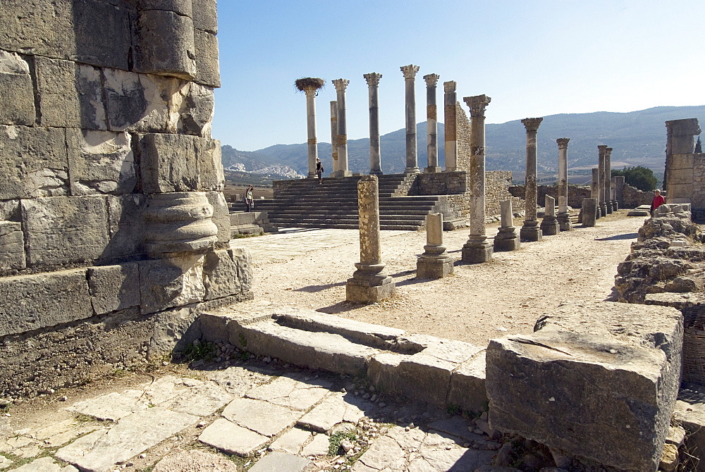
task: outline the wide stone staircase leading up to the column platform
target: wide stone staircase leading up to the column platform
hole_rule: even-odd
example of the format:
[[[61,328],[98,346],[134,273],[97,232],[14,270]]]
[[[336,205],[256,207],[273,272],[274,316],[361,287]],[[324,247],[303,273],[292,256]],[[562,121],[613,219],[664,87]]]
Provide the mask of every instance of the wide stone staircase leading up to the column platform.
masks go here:
[[[441,211],[442,196],[405,195],[414,175],[390,174],[379,178],[379,225],[382,230],[415,231],[426,215]],[[271,200],[257,200],[278,228],[357,229],[357,181],[360,177],[302,179],[287,182]],[[403,194],[403,195],[400,195]]]

